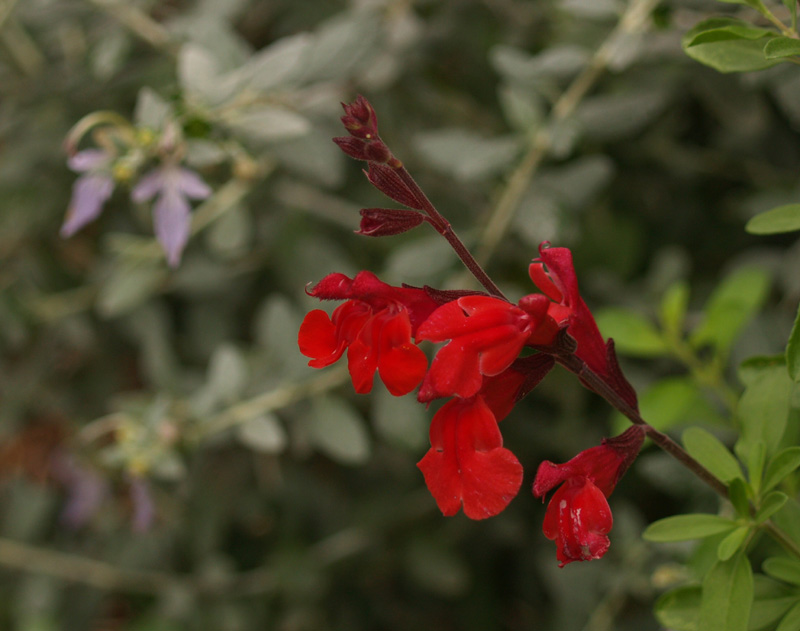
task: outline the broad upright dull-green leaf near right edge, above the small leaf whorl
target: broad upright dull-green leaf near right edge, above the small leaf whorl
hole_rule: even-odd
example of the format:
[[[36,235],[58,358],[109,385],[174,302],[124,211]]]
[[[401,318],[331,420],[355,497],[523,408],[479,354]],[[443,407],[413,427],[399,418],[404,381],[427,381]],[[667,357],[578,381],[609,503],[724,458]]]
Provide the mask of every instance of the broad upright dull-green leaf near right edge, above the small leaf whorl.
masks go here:
[[[789,418],[794,385],[782,364],[766,365],[755,371],[751,379],[736,409],[742,426],[736,449],[745,458],[759,440],[764,441],[767,454],[778,448]]]

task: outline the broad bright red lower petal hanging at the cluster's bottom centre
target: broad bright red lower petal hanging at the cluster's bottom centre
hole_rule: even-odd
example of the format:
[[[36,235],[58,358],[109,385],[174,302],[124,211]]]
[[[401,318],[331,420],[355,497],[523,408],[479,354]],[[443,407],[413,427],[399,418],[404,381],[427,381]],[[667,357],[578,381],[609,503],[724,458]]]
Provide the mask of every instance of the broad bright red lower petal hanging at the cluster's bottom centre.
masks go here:
[[[431,449],[417,466],[445,516],[463,506],[471,519],[502,511],[522,484],[522,465],[508,449],[483,397],[451,399],[431,422]]]

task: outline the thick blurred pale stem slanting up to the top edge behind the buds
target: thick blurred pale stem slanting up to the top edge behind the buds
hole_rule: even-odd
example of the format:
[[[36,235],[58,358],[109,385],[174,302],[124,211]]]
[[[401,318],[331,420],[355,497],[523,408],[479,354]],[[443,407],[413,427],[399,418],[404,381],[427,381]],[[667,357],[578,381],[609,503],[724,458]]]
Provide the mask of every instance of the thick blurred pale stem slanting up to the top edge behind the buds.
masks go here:
[[[531,178],[536,174],[542,160],[552,147],[551,131],[575,112],[580,102],[594,86],[613,59],[620,42],[632,33],[641,31],[658,0],[631,0],[616,28],[594,53],[583,71],[553,105],[547,122],[531,137],[528,151],[517,168],[511,173],[500,199],[492,211],[483,235],[476,259],[485,265],[497,250],[500,241],[511,225]]]

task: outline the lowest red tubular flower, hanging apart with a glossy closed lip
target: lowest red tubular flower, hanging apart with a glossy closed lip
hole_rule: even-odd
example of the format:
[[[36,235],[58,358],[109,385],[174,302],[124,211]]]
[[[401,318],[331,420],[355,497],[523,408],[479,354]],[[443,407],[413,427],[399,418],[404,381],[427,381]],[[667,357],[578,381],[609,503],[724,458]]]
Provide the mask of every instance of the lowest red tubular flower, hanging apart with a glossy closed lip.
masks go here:
[[[572,561],[599,559],[608,550],[608,533],[614,520],[606,498],[642,448],[644,428],[634,425],[599,447],[582,451],[569,462],[539,465],[533,494],[553,494],[542,530],[556,542],[559,566]]]

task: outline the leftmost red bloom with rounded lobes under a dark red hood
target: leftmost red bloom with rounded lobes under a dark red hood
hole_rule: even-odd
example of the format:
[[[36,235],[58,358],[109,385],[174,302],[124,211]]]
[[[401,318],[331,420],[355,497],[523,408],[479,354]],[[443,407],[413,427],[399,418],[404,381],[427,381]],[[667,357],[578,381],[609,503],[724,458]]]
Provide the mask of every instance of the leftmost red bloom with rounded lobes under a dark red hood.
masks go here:
[[[320,299],[348,299],[333,315],[321,309],[308,313],[300,326],[300,352],[313,368],[338,361],[347,350],[353,387],[359,394],[372,390],[375,371],[395,396],[411,392],[428,367],[425,354],[411,338],[415,329],[437,307],[422,289],[392,287],[371,272],[352,280],[330,274],[309,295]]]

